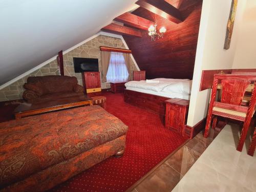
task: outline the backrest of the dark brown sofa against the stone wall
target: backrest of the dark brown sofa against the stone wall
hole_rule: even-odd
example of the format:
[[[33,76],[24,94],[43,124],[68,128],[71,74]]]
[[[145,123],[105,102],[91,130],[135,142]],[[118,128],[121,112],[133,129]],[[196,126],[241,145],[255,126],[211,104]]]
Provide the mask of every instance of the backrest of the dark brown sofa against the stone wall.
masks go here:
[[[76,77],[59,75],[28,77],[27,81],[39,84],[44,94],[73,91],[74,86],[78,83]]]

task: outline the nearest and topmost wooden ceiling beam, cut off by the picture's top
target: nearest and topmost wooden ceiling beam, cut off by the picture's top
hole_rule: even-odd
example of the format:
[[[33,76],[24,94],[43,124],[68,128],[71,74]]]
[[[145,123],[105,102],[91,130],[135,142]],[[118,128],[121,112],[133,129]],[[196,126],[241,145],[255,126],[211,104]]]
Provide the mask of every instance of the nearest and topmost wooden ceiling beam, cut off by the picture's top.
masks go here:
[[[139,0],[136,4],[176,24],[183,22],[179,9],[164,0]]]

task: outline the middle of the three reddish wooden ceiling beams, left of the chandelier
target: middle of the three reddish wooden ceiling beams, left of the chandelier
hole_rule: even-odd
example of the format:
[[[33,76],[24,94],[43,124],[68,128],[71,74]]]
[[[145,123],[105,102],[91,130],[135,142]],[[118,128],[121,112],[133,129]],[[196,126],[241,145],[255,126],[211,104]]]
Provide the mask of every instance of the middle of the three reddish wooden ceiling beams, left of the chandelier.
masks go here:
[[[126,12],[116,17],[114,20],[143,30],[147,30],[148,27],[154,25],[154,22],[152,22],[151,20],[147,20],[143,17],[134,15],[129,12]]]

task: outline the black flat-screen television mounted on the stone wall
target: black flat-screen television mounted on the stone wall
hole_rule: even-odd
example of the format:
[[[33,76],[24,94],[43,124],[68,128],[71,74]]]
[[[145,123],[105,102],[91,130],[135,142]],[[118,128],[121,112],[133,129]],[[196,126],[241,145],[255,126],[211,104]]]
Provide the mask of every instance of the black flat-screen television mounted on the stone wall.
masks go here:
[[[99,71],[98,59],[74,57],[73,61],[75,73]]]

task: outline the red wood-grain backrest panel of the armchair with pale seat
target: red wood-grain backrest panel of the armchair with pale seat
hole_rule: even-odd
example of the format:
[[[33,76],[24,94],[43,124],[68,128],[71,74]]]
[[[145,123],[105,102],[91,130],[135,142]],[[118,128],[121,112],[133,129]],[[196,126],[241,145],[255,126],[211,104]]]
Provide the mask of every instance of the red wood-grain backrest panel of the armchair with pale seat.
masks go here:
[[[241,105],[246,88],[250,84],[246,79],[222,79],[221,102]]]

